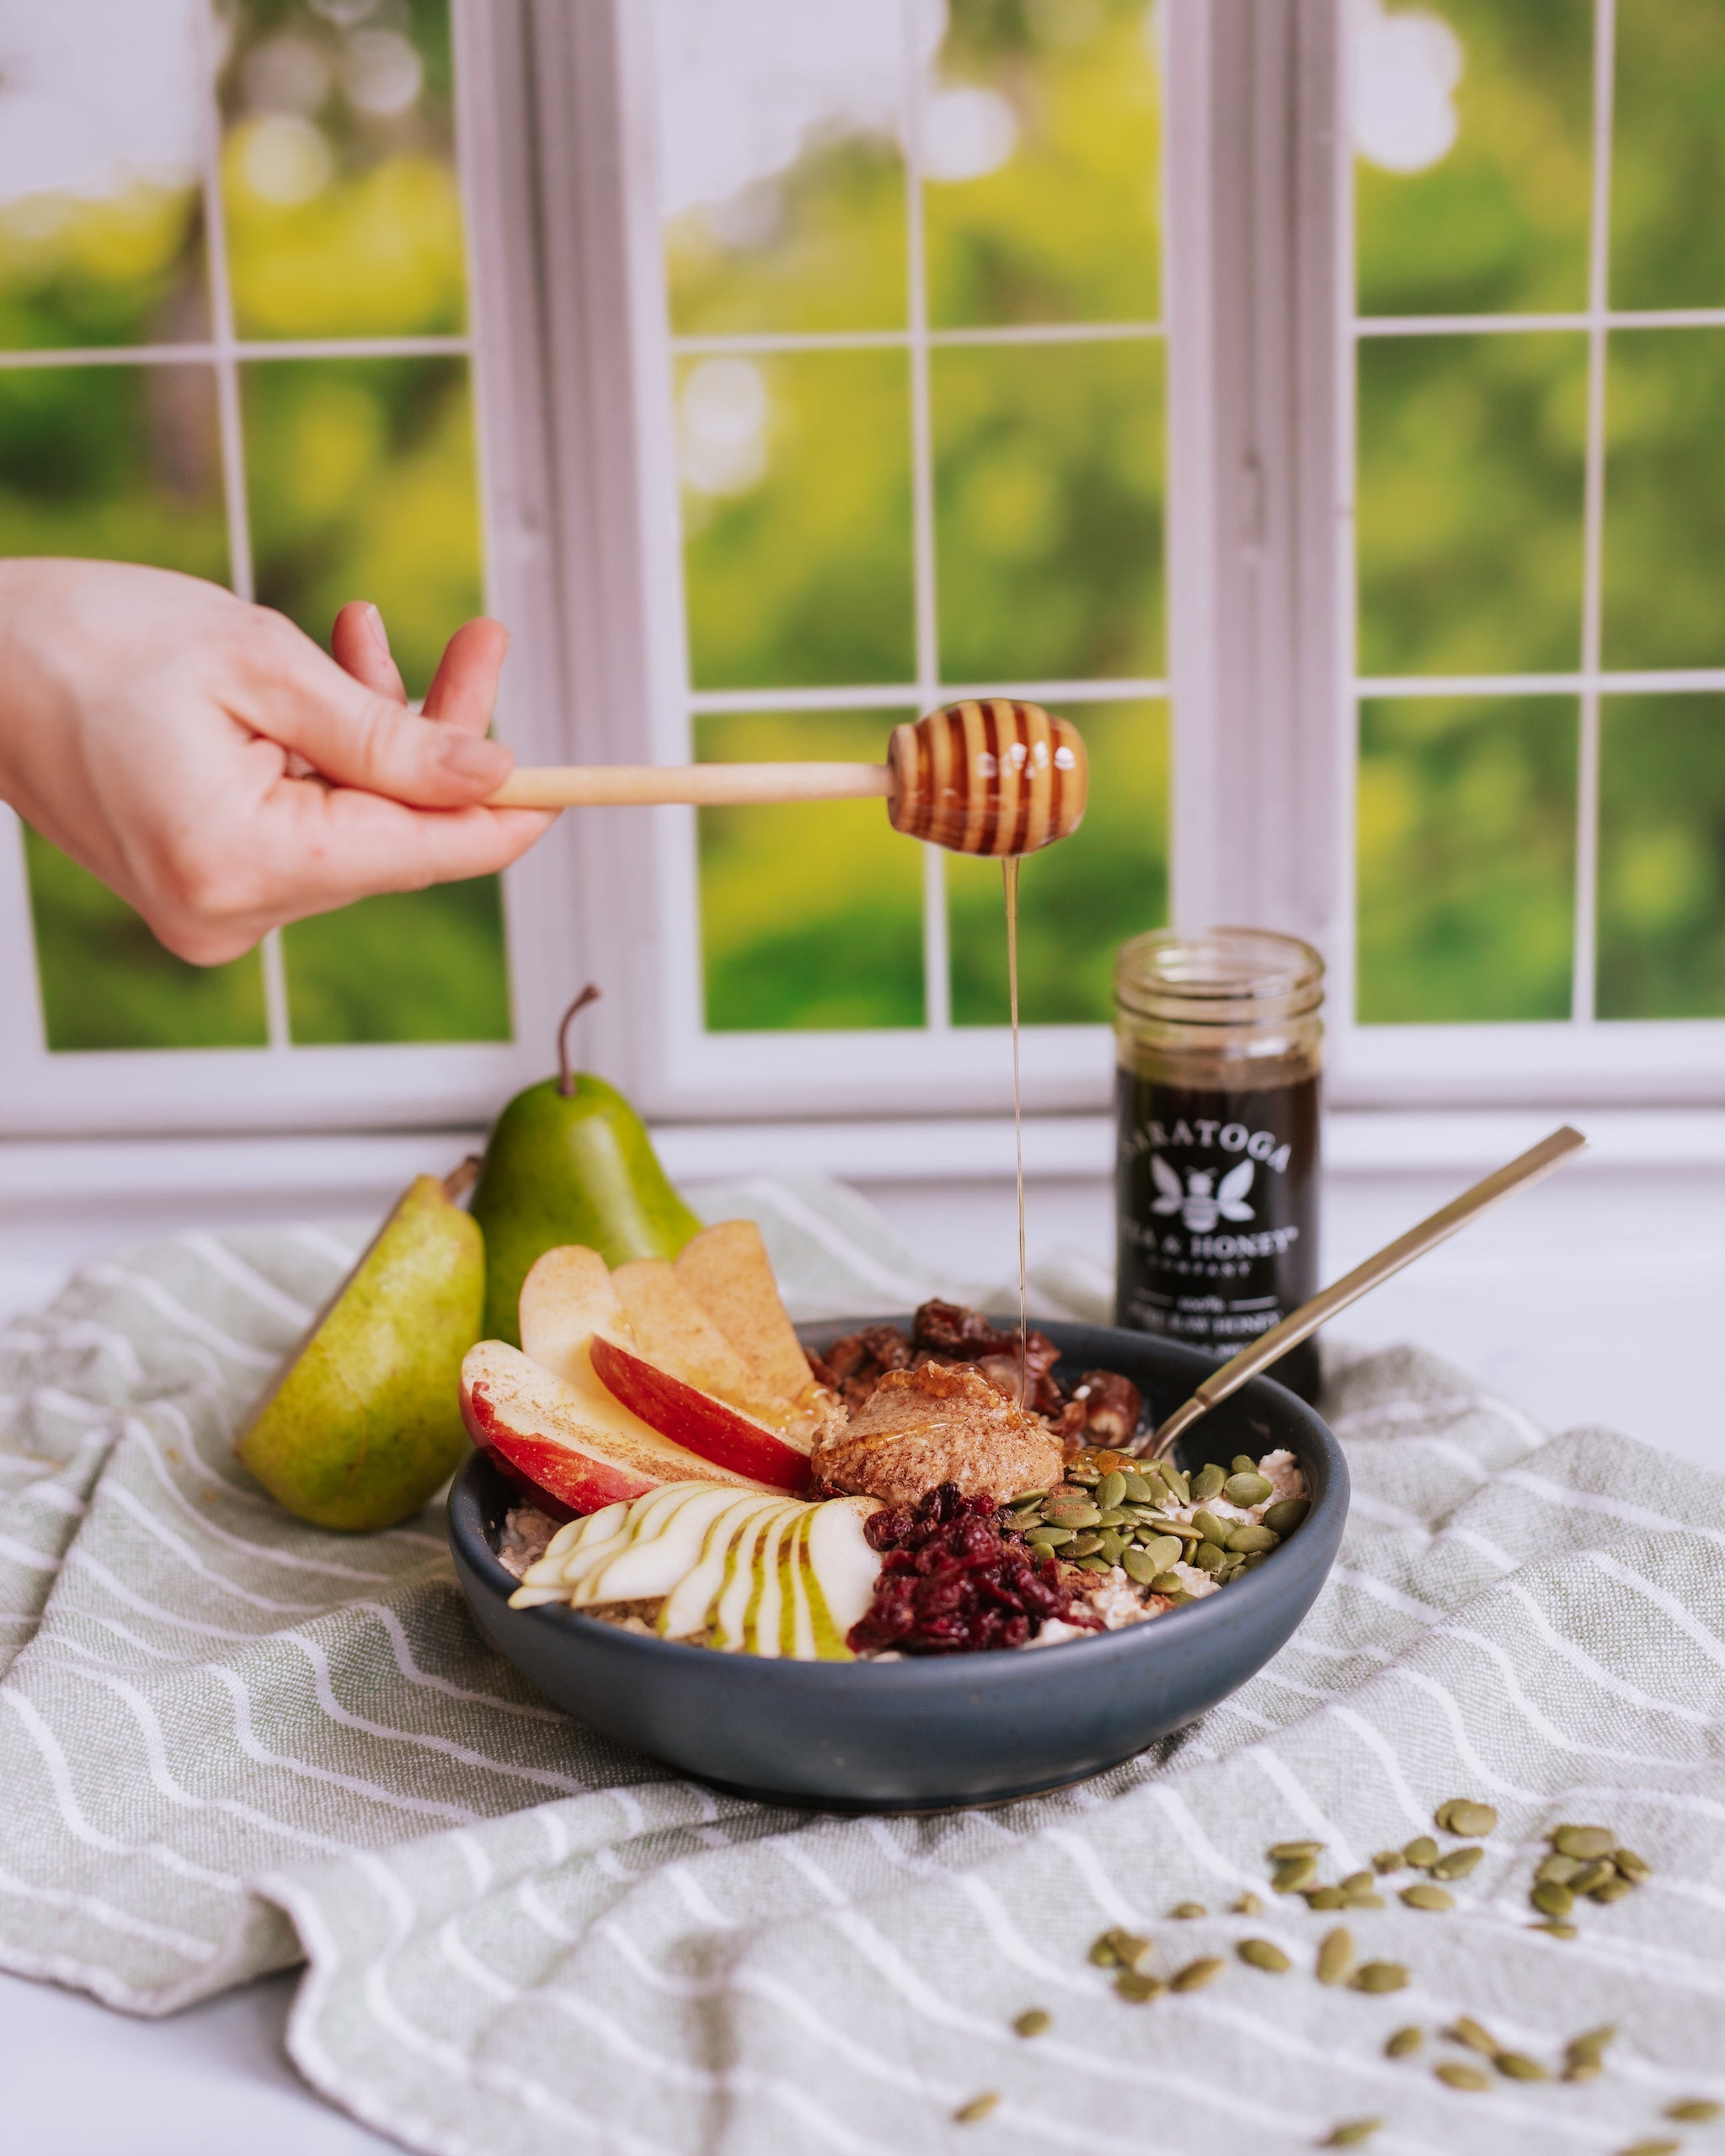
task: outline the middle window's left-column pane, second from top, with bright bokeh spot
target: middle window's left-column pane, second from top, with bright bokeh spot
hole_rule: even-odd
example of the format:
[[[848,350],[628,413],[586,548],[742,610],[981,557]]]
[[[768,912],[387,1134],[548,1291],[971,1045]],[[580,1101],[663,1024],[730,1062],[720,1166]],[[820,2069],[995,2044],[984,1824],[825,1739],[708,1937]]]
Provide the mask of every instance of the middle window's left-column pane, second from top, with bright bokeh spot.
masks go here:
[[[912,679],[906,356],[690,360],[677,444],[694,686]]]

